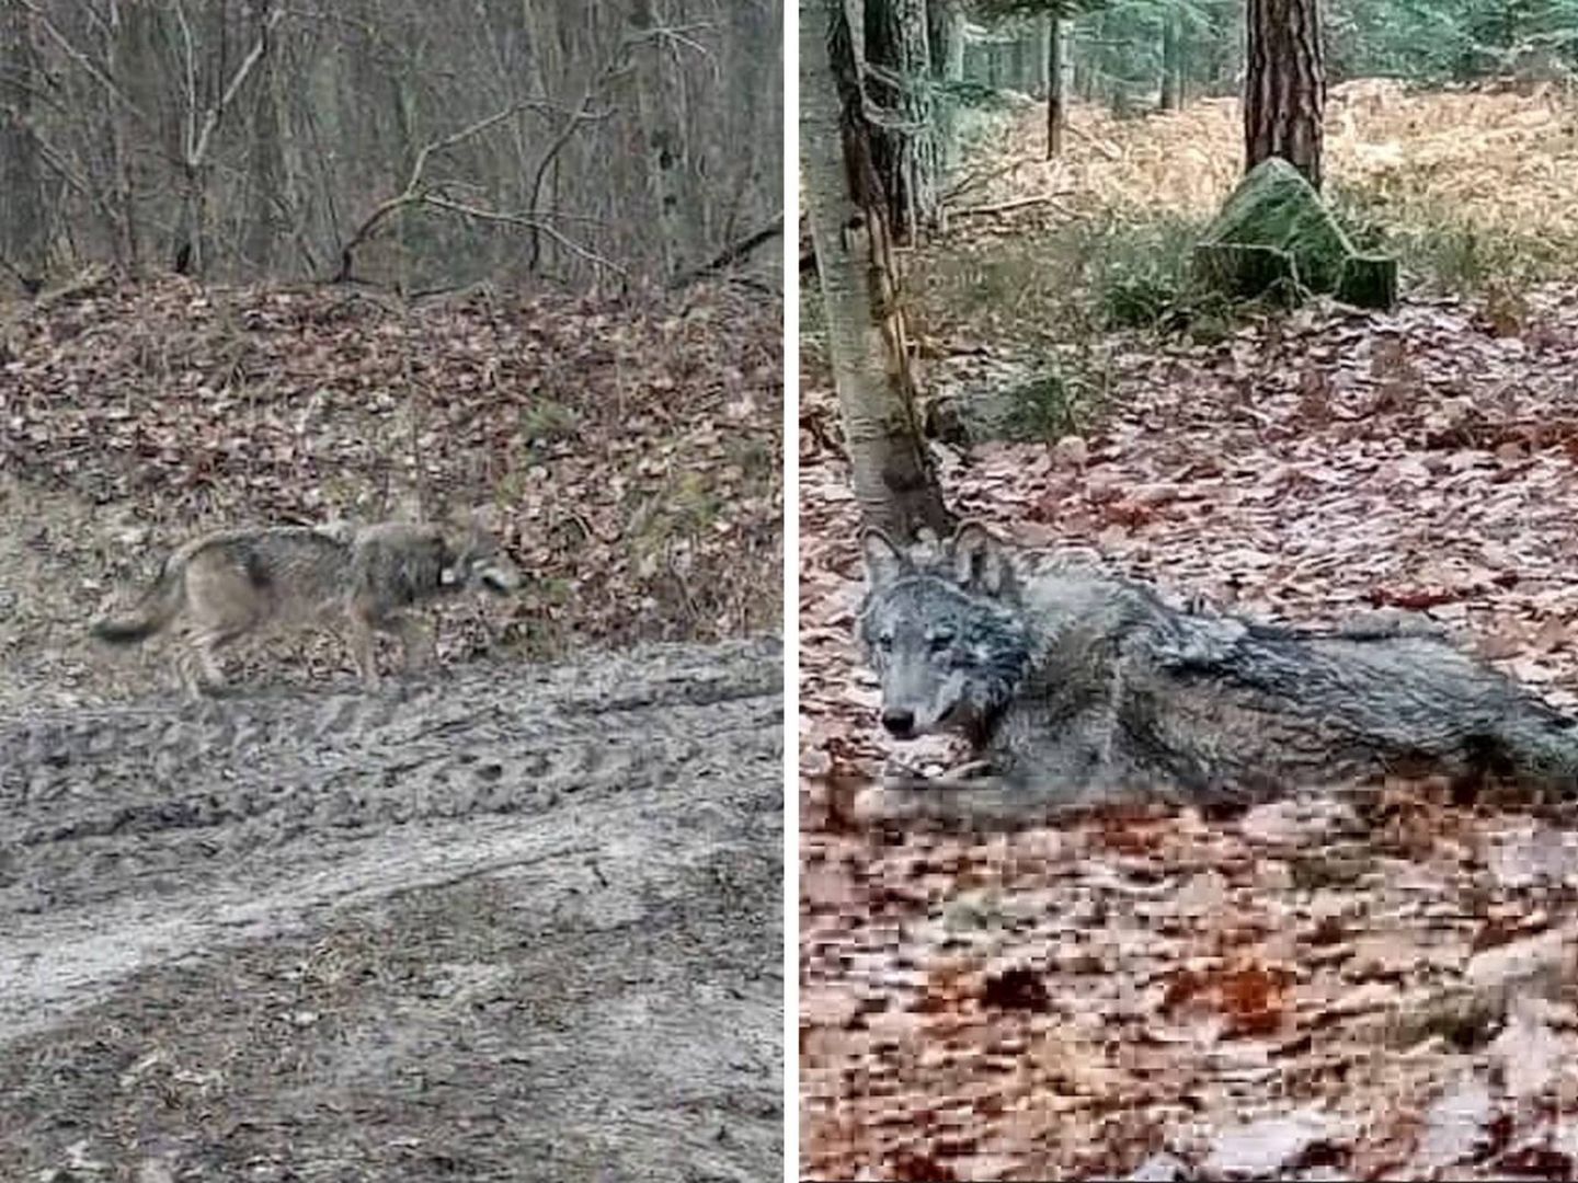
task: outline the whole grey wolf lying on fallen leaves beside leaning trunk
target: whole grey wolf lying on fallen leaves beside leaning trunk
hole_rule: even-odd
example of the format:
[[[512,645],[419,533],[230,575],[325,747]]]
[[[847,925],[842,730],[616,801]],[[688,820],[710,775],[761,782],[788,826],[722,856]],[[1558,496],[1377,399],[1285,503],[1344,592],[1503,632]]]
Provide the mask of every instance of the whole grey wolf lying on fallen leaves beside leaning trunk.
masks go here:
[[[1023,815],[1112,800],[1256,800],[1389,770],[1578,792],[1578,721],[1439,636],[1182,612],[980,525],[863,536],[858,636],[896,738],[964,735],[972,773],[909,778],[892,814]]]

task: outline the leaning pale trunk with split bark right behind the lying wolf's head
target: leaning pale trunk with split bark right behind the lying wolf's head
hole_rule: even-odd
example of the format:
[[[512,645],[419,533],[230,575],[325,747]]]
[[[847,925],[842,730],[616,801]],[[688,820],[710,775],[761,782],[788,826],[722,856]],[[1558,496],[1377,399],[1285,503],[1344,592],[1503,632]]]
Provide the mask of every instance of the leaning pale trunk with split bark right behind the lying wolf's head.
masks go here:
[[[948,513],[920,435],[892,240],[857,84],[860,0],[800,0],[800,169],[855,502],[912,538]]]

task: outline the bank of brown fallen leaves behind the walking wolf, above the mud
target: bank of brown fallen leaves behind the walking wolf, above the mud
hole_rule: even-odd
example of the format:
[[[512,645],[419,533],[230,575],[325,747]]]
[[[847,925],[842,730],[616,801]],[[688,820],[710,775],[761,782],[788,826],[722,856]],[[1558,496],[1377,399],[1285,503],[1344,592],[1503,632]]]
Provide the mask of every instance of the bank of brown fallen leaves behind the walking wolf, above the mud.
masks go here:
[[[5,683],[66,705],[164,685],[88,618],[194,533],[286,522],[477,516],[525,587],[456,607],[454,655],[776,631],[781,325],[731,285],[401,304],[103,274],[0,309]]]

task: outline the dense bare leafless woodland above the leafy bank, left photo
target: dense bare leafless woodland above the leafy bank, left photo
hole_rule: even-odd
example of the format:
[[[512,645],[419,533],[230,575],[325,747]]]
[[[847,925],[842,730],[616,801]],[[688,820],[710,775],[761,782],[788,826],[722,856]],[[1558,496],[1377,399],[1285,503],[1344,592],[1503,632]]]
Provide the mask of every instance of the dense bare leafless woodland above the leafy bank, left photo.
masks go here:
[[[781,210],[770,0],[5,0],[0,265],[672,278]]]

